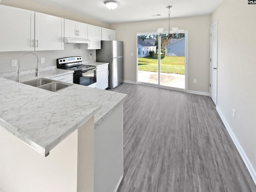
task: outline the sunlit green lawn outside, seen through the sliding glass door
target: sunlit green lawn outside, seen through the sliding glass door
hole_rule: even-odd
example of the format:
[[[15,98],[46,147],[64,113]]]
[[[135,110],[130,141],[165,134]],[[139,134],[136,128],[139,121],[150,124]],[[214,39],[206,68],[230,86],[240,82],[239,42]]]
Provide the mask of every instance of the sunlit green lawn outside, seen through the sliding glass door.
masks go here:
[[[158,54],[138,58],[138,70],[157,72]],[[161,72],[185,74],[185,57],[161,55]]]

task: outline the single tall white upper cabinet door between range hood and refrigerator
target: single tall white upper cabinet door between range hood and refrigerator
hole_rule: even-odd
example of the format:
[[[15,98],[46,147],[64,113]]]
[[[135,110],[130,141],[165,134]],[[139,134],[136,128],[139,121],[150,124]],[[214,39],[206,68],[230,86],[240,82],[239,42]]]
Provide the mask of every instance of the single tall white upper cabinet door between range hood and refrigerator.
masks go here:
[[[88,24],[88,49],[100,49],[101,27]]]

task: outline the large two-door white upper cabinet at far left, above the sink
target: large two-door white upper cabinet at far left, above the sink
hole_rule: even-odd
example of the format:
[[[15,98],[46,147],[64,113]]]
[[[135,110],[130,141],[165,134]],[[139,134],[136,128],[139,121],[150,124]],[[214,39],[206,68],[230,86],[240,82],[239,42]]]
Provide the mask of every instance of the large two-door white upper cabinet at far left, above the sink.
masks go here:
[[[0,51],[64,50],[64,19],[0,5]]]

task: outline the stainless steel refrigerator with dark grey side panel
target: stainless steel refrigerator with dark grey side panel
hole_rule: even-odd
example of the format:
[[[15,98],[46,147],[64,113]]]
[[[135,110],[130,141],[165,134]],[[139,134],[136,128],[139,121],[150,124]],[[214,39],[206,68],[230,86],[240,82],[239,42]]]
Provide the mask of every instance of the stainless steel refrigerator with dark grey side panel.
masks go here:
[[[124,42],[101,41],[101,49],[96,50],[96,61],[108,64],[108,88],[124,82]]]

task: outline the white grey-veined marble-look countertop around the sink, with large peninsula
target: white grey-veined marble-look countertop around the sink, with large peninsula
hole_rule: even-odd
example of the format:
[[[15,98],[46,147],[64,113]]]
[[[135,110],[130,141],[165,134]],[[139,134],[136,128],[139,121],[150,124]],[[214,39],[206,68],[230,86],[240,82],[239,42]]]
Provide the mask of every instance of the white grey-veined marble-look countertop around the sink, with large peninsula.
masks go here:
[[[62,72],[48,70],[40,78],[42,73],[52,78]],[[50,92],[0,77],[0,125],[46,155],[92,116],[97,128],[125,99],[126,94],[78,84]]]

